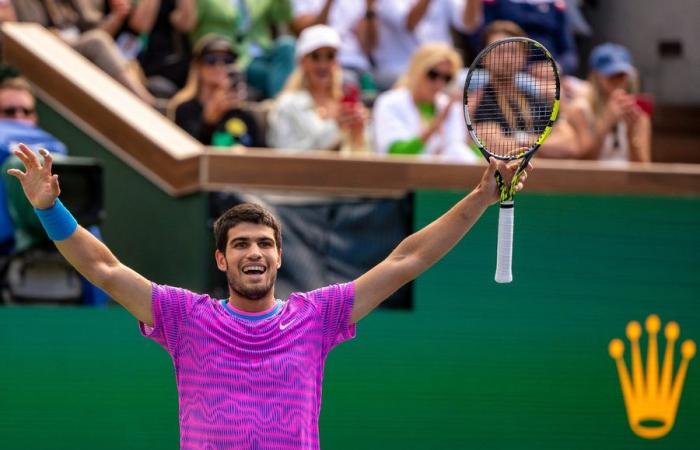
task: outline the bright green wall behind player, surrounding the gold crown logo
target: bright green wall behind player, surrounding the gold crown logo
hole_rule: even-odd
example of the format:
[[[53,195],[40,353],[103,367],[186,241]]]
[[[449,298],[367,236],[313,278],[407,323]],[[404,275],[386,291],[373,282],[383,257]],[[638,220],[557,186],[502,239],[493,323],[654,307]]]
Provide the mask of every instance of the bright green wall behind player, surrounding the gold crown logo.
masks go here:
[[[131,202],[138,189],[125,189]],[[458,198],[418,193],[417,226]],[[199,214],[194,224],[199,201],[167,208]],[[331,354],[323,447],[697,449],[700,358],[674,429],[646,441],[627,425],[607,346],[650,313],[700,341],[700,199],[523,193],[510,285],[493,282],[496,221],[493,207],[416,282],[414,311],[376,311]],[[208,257],[175,267],[170,249],[143,253],[147,226],[126,225],[108,243],[152,273],[167,261],[157,270],[180,276]],[[206,253],[202,236],[173,245]],[[2,449],[177,447],[171,363],[119,308],[0,309],[0,361]]]

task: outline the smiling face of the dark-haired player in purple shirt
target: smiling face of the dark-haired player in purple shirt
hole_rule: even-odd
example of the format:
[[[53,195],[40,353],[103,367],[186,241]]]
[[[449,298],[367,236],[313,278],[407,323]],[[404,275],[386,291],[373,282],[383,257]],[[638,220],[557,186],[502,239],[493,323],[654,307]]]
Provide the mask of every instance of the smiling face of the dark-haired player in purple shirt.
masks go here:
[[[219,270],[226,273],[231,297],[274,301],[282,251],[271,227],[241,222],[229,228],[225,250],[217,250],[215,256]]]

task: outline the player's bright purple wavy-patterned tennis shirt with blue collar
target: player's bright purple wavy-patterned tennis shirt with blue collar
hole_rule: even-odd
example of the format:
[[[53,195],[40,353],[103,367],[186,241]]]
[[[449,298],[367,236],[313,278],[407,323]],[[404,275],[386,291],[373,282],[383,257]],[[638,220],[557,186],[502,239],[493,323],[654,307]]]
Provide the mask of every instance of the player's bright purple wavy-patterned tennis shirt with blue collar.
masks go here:
[[[318,449],[323,366],[355,336],[353,283],[294,293],[246,314],[153,284],[153,327],[175,365],[180,448]]]

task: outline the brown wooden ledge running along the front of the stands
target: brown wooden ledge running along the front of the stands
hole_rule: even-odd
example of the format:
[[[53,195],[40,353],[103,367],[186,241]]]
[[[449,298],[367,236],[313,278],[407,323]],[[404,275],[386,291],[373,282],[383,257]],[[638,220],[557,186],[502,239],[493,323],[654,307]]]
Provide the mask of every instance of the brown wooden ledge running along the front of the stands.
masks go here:
[[[398,193],[466,190],[483,165],[335,152],[204,148],[36,24],[6,23],[4,57],[49,103],[153,183],[177,196],[235,188]],[[700,195],[700,165],[545,160],[533,192]]]

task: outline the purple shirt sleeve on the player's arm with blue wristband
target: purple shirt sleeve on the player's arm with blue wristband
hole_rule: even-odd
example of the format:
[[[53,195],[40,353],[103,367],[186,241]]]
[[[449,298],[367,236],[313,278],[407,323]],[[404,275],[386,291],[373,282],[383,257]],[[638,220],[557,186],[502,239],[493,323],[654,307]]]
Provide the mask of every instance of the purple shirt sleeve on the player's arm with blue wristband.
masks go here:
[[[171,356],[177,353],[178,339],[194,304],[195,294],[185,289],[152,283],[153,326],[139,322],[141,334],[159,343]]]

